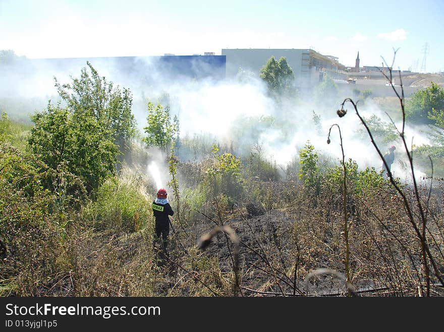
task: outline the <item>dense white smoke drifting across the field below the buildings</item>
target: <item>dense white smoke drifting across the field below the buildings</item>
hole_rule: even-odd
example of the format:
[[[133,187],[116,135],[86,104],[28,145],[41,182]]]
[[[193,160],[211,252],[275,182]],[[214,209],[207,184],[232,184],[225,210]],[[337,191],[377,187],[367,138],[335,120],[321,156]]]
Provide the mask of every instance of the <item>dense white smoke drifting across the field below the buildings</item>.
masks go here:
[[[133,113],[142,132],[146,126],[148,100],[156,102],[159,96],[168,94],[171,113],[179,117],[182,138],[186,135],[214,137],[217,142],[227,146],[232,143],[241,153],[248,153],[252,145],[257,143],[261,146],[265,158],[285,167],[294,160],[307,141],[310,141],[317,151],[331,156],[332,159],[342,159],[337,128],[332,129],[331,144],[326,143],[329,127],[338,123],[342,131],[346,159],[356,160],[361,169],[368,166],[381,168],[382,161],[370,139],[357,139],[356,131],[363,129],[363,126],[354,114],[351,104],[346,105],[349,109],[348,114],[339,118],[336,115],[339,104],[319,106],[314,104],[309,95],[300,95],[299,101],[284,100],[281,104],[276,104],[267,96],[265,85],[257,77],[250,78],[246,83],[235,80],[214,82],[210,79],[196,81],[184,77],[171,78],[157,71],[155,61],[145,57],[136,58],[127,69],[109,60],[92,58],[90,62],[99,76],[105,76],[107,81],[114,82],[115,86],[127,87],[132,91]],[[53,87],[54,76],[61,84],[71,83],[69,75],[79,77],[82,67],[86,67],[86,61],[81,63],[72,60],[66,71],[57,67],[54,62],[34,61],[33,69],[29,70],[25,82],[17,76],[15,80],[5,78],[0,81],[0,97],[5,98],[16,92],[19,98],[47,98],[56,93]],[[8,109],[4,110],[8,112]],[[312,120],[313,110],[321,118],[319,127],[316,127]],[[384,112],[371,102],[360,112],[363,116],[376,114],[383,121],[390,121]],[[247,125],[248,118],[257,119],[261,116],[272,116],[274,123],[260,127]],[[399,121],[397,125],[400,125]],[[426,128],[406,128],[407,139],[413,138],[413,144],[416,146],[430,144],[421,129]],[[400,143],[394,145],[397,146],[396,158],[404,158]],[[383,152],[386,148],[380,147]],[[149,172],[159,188],[162,186],[162,180],[165,180],[160,178],[160,174],[164,172],[160,173],[158,169],[156,171],[155,165],[156,163],[150,164]],[[400,176],[405,173],[396,162],[393,170]]]

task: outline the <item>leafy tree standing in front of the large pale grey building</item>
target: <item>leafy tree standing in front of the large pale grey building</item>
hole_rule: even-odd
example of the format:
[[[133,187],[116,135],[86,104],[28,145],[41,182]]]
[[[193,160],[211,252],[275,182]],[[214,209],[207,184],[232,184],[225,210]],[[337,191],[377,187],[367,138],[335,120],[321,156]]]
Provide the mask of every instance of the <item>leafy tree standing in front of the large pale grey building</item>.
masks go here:
[[[294,92],[295,75],[284,56],[279,61],[271,56],[260,70],[260,78],[265,81],[268,92],[274,97]]]

